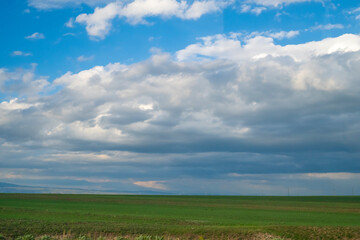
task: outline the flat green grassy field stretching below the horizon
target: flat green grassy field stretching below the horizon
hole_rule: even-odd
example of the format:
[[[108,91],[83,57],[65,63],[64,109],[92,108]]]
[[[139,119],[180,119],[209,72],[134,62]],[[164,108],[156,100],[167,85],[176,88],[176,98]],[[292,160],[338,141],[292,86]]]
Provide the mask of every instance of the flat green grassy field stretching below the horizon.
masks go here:
[[[0,194],[0,234],[360,239],[360,197]]]

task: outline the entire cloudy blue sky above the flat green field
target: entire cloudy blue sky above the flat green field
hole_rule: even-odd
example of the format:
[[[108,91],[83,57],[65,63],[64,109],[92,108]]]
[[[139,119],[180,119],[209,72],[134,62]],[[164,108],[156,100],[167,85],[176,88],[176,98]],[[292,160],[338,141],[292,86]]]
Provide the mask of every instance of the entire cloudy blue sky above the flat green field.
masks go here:
[[[360,194],[357,1],[0,6],[0,182]]]

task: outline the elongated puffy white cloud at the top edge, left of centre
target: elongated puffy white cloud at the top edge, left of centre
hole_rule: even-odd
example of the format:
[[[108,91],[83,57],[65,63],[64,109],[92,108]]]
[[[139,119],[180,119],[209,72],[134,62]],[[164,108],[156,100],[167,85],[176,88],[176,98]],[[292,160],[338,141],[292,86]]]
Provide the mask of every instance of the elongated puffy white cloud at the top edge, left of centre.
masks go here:
[[[103,39],[116,17],[124,17],[131,24],[146,24],[145,18],[152,16],[198,19],[204,14],[218,12],[228,4],[230,2],[215,0],[194,1],[191,4],[177,0],[134,0],[127,4],[117,1],[96,8],[92,14],[79,15],[76,22],[85,24],[91,37]]]

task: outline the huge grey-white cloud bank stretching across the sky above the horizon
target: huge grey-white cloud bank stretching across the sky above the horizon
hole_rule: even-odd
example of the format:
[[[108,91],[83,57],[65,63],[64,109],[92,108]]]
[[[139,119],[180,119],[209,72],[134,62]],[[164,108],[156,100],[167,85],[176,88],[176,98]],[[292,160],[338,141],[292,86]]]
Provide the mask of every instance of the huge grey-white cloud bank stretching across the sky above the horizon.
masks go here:
[[[168,191],[207,183],[202,193],[229,184],[249,194],[281,194],[283,179],[358,178],[360,36],[280,46],[217,35],[176,58],[159,53],[53,83],[34,69],[1,69],[1,91],[17,89],[0,103],[3,178]],[[293,184],[305,193],[301,181]]]

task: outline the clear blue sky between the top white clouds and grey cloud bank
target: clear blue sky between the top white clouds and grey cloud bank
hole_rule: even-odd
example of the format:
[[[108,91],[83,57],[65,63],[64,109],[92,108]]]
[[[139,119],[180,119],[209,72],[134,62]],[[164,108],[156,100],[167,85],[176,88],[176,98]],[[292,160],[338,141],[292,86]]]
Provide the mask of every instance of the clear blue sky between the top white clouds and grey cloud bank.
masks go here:
[[[349,13],[357,7],[351,1],[299,1],[278,7],[259,5],[267,8],[260,14],[252,13],[251,9],[241,12],[246,1],[239,1],[198,19],[151,16],[147,18],[149,24],[129,24],[126,19],[115,17],[110,33],[104,39],[98,36],[91,39],[84,25],[75,22],[69,28],[66,23],[82,13],[91,14],[97,5],[104,7],[106,1],[98,1],[98,4],[94,1],[92,6],[80,4],[81,1],[49,1],[45,8],[43,2],[47,1],[4,1],[2,18],[11,21],[2,26],[7,36],[1,39],[0,63],[3,67],[28,68],[31,63],[37,63],[39,75],[56,78],[67,71],[78,72],[109,62],[129,64],[145,60],[151,56],[152,47],[174,53],[199,37],[215,34],[301,33],[292,38],[276,39],[279,44],[286,45],[359,31],[357,14]],[[321,26],[330,25],[334,25],[333,29],[321,29]],[[34,33],[43,34],[44,39],[26,39]],[[12,55],[14,51],[31,55],[16,57]],[[85,61],[78,61],[80,56]]]

